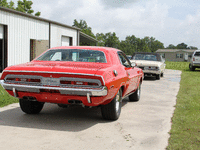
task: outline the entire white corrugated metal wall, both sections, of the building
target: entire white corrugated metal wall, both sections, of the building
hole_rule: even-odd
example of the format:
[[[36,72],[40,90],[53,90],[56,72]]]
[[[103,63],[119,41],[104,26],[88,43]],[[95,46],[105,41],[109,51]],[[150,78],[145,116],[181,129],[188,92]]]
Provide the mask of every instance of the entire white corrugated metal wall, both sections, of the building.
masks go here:
[[[77,45],[77,30],[0,10],[0,25],[8,27],[8,66],[30,61],[30,40],[49,40],[50,47],[62,45],[62,36],[72,37]],[[1,35],[0,35],[1,36]]]

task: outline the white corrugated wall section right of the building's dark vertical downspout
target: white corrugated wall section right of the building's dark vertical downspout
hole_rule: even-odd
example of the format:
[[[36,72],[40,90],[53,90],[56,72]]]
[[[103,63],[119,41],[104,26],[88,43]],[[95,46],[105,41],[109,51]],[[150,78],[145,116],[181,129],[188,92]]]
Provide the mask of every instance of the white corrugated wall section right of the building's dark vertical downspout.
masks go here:
[[[61,46],[62,36],[72,37],[72,45],[77,45],[77,30],[51,24],[51,47]]]

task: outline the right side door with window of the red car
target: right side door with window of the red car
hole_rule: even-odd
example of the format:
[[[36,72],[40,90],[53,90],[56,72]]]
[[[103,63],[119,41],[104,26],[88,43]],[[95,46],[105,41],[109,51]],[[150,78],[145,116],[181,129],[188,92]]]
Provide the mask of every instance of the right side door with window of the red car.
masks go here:
[[[135,67],[131,66],[129,59],[123,52],[118,52],[121,64],[124,67],[127,75],[125,95],[131,93],[137,88],[138,73]]]

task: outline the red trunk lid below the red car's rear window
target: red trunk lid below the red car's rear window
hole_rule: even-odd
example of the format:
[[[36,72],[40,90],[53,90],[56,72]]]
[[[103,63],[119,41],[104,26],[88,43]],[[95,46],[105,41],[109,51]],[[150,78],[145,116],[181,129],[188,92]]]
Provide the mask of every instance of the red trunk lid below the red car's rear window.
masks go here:
[[[21,72],[60,72],[78,74],[96,74],[99,69],[107,67],[107,64],[88,62],[49,62],[32,61],[30,63],[7,67],[4,71]]]

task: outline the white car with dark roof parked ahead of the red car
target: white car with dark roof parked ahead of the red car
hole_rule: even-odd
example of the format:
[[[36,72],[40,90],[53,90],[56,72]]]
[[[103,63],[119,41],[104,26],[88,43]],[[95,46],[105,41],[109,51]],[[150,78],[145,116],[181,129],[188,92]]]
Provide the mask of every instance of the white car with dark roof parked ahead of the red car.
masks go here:
[[[137,52],[134,53],[131,63],[136,63],[144,72],[144,76],[155,76],[160,80],[165,70],[165,60],[158,53]]]

